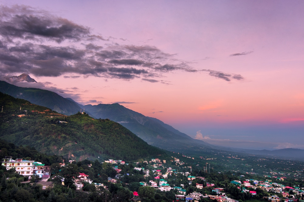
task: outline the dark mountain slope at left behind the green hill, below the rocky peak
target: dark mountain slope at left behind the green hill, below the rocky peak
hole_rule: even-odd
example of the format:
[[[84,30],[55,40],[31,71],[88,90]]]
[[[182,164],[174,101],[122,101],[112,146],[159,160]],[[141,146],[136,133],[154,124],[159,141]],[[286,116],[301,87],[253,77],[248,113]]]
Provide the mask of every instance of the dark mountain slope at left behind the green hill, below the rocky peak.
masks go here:
[[[23,88],[0,81],[0,92],[50,108],[60,114],[71,115],[80,111],[78,104],[52,91],[39,88]]]

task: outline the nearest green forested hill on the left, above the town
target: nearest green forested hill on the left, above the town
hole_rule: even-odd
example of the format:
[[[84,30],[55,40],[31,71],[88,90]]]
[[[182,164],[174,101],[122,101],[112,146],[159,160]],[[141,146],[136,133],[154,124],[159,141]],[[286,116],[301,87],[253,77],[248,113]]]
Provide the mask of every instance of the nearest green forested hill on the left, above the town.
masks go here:
[[[109,119],[94,119],[80,112],[66,116],[3,93],[0,105],[0,137],[16,145],[75,160],[138,160],[165,155]]]

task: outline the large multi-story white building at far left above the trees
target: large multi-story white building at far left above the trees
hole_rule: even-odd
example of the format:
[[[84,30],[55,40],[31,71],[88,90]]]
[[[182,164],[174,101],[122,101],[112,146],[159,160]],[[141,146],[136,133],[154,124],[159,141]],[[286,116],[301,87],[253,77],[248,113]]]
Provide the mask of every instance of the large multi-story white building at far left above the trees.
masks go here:
[[[4,158],[2,159],[2,166],[9,169],[16,169],[16,173],[19,173],[23,176],[31,176],[31,175],[39,175],[42,177],[43,175],[43,166],[40,162],[35,162],[31,160],[23,160],[22,158],[17,158],[13,160],[12,158]]]

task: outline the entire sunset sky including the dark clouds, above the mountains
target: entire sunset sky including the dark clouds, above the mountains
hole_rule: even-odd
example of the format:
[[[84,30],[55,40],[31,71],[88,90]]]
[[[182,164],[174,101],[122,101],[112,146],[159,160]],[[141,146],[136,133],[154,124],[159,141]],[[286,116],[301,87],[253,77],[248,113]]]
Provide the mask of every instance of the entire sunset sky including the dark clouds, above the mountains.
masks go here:
[[[0,0],[0,79],[210,144],[304,149],[303,1]],[[29,74],[37,83],[7,80]]]

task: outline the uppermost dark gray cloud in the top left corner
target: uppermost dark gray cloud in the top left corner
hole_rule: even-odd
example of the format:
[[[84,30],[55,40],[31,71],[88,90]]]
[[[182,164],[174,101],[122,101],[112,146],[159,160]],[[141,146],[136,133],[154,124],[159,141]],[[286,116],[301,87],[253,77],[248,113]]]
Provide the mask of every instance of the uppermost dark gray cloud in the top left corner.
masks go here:
[[[66,39],[79,41],[90,36],[89,28],[29,6],[2,6],[0,17],[0,34],[10,41],[14,38],[35,41],[45,38],[60,43]]]

